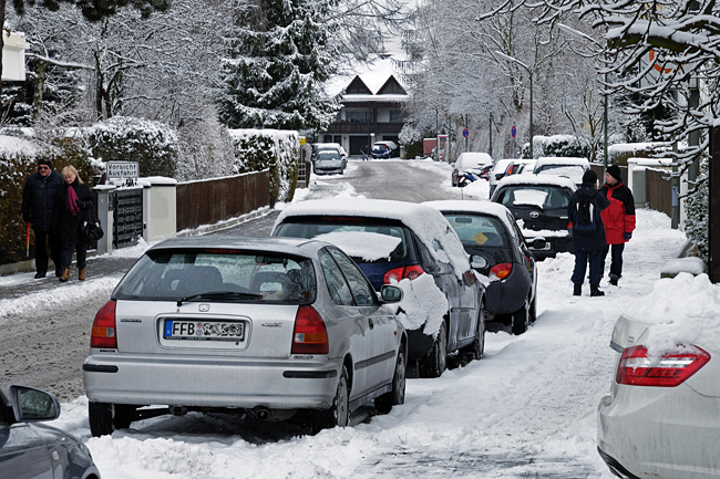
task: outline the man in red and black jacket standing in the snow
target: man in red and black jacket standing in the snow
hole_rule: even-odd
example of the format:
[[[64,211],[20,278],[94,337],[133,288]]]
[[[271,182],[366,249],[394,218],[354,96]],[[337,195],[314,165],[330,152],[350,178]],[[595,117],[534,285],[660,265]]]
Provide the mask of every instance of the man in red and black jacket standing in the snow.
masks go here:
[[[632,191],[625,186],[617,165],[608,166],[605,171],[605,185],[600,192],[610,200],[610,206],[600,211],[605,225],[605,240],[607,247],[603,254],[603,270],[605,258],[610,252],[610,284],[617,287],[623,277],[623,250],[625,243],[632,238],[635,230],[635,198]]]

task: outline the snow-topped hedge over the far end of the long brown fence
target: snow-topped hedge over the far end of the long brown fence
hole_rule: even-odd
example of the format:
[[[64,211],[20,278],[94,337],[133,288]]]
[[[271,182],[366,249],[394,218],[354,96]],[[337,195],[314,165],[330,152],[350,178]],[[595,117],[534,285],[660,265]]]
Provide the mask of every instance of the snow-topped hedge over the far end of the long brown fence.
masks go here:
[[[300,136],[280,129],[230,129],[235,148],[234,173],[270,168],[270,206],[289,202],[298,179]]]

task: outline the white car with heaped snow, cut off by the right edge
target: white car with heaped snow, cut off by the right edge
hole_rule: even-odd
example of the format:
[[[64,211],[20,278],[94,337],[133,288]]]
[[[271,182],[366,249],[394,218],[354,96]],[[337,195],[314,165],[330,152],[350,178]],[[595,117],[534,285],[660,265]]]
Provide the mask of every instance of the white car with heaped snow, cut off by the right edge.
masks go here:
[[[598,451],[624,478],[720,477],[720,288],[681,273],[656,283],[613,331]]]

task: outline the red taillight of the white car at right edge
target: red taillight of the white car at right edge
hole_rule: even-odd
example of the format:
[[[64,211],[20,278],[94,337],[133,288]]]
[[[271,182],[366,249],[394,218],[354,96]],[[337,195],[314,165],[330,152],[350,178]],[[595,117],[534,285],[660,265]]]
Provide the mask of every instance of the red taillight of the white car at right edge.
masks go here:
[[[698,346],[664,354],[660,358],[648,356],[645,346],[628,347],[623,352],[615,381],[628,386],[675,387],[686,382],[710,361],[710,354]]]

